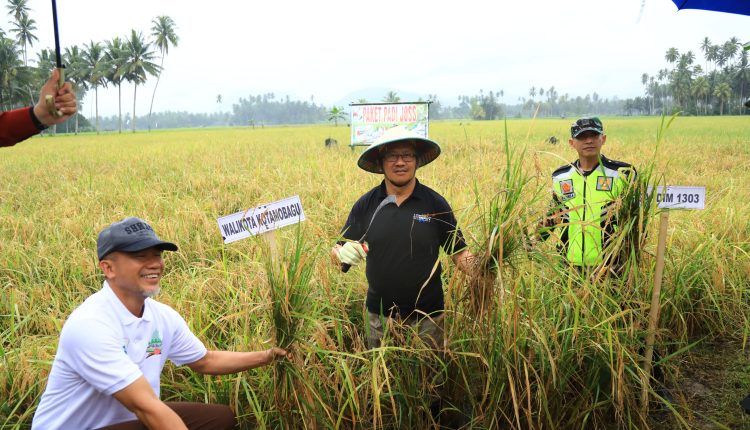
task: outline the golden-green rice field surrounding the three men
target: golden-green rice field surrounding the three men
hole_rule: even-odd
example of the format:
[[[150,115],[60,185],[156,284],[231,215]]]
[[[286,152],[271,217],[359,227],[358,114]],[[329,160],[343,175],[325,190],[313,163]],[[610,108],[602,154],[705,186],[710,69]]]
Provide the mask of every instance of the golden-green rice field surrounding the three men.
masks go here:
[[[570,120],[537,119],[431,124],[443,153],[417,177],[451,203],[470,248],[496,263],[478,283],[442,257],[444,354],[406,328],[365,348],[364,270],[340,273],[328,251],[381,178],[356,167],[361,149],[344,143],[347,127],[41,136],[1,149],[0,428],[29,428],[63,322],[101,287],[96,235],[129,215],[180,247],[166,256],[157,300],[207,347],[265,349],[284,337],[295,352],[222,377],[167,366],[165,400],[229,404],[248,429],[428,428],[435,393],[455,428],[659,428],[655,411],[694,428],[700,414],[669,383],[681,357],[699,341],[744,348],[750,335],[748,119],[603,121],[609,158],[654,183],[706,187],[705,210],[670,214],[656,350],[675,399],[652,390],[649,415],[639,399],[655,214],[644,214],[644,246],[625,279],[581,279],[553,241],[525,246],[546,212],[550,173],[575,159]],[[339,146],[324,148],[328,137]],[[264,238],[223,244],[217,218],[293,195],[306,220],[278,231],[278,256]],[[739,385],[737,400],[750,392]],[[737,419],[716,424],[750,425]]]

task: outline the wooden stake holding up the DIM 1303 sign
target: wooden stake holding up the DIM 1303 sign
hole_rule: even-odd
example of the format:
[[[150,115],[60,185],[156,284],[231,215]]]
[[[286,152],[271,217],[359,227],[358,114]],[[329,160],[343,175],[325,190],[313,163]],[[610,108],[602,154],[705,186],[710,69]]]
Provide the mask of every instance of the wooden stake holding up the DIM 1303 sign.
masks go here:
[[[648,391],[651,387],[651,361],[654,358],[654,341],[656,329],[659,325],[659,310],[661,308],[661,281],[664,275],[664,253],[667,248],[667,226],[669,225],[669,209],[664,209],[659,216],[659,243],[656,247],[656,271],[654,272],[654,290],[651,294],[651,308],[648,313],[648,332],[646,336],[646,352],[643,357],[643,386],[641,388],[641,413],[645,419],[648,414]]]

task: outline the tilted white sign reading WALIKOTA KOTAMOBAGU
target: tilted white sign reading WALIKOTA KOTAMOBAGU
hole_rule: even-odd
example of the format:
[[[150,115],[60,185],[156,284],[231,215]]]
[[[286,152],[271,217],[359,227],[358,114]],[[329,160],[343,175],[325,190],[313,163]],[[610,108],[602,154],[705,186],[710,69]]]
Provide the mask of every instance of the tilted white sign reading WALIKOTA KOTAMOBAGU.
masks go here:
[[[266,233],[305,220],[299,196],[268,203],[218,219],[224,243]]]

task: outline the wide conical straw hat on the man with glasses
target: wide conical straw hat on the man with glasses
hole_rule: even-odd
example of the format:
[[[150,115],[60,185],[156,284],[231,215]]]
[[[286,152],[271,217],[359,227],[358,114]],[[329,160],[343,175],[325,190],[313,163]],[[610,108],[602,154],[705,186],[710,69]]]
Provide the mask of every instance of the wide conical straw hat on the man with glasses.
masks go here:
[[[440,155],[440,145],[436,142],[424,138],[414,131],[408,130],[406,127],[399,125],[389,128],[385,133],[372,142],[362,155],[359,156],[357,166],[370,173],[383,173],[383,164],[380,162],[380,159],[383,156],[385,148],[390,143],[400,142],[402,140],[414,142],[419,167],[431,163],[432,160]]]

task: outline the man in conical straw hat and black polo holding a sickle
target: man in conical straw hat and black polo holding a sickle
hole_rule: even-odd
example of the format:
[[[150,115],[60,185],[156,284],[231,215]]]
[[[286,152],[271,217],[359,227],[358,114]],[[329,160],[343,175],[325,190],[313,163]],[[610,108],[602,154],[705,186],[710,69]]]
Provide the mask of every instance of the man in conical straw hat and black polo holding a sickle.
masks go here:
[[[347,269],[366,260],[368,347],[376,348],[392,319],[417,327],[435,348],[443,347],[444,298],[440,248],[470,271],[456,218],[440,194],[420,183],[416,171],[440,155],[440,146],[397,126],[359,157],[357,165],[383,174],[383,181],[357,200],[333,254]]]

